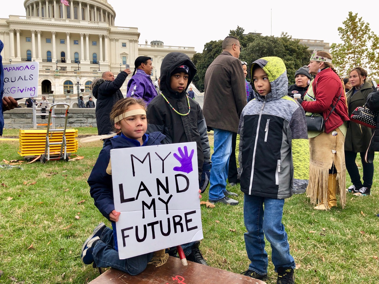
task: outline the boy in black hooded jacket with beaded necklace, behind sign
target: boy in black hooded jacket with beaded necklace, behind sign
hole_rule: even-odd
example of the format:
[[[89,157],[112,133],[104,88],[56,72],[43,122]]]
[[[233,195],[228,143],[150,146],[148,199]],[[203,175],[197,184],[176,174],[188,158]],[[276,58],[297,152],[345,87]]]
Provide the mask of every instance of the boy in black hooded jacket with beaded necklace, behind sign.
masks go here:
[[[147,107],[147,132],[166,135],[162,144],[196,142],[199,188],[208,185],[211,160],[207,125],[199,103],[190,100],[186,92],[196,74],[191,59],[184,53],[171,52],[162,61],[160,91]],[[182,245],[189,261],[207,265],[199,250],[200,242]]]

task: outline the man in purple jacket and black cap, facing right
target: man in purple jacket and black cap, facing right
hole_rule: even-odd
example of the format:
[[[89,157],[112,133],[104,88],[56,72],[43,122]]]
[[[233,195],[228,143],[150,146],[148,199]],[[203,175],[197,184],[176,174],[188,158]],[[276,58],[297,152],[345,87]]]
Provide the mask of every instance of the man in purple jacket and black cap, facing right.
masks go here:
[[[127,97],[141,98],[146,102],[146,106],[155,98],[158,93],[150,78],[153,70],[151,57],[139,56],[134,62],[133,77],[128,82]]]

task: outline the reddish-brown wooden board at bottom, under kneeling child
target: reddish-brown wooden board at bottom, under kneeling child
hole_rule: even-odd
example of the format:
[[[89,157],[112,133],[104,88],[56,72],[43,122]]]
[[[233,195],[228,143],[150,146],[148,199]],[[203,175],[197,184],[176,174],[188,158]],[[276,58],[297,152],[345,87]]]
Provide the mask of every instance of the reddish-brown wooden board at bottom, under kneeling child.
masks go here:
[[[219,268],[188,261],[183,266],[177,257],[169,257],[160,267],[147,265],[144,272],[132,276],[120,270],[110,268],[89,284],[265,284],[261,280],[243,276]]]

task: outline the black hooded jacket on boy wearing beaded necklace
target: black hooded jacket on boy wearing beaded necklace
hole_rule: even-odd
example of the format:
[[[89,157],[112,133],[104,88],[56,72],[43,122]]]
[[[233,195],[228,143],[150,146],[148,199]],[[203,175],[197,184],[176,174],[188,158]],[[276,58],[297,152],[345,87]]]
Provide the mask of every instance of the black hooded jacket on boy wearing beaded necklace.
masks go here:
[[[189,67],[188,84],[180,94],[171,89],[171,73],[179,66]],[[195,100],[187,100],[186,90],[196,74],[196,67],[187,55],[180,52],[172,52],[166,55],[161,64],[161,92],[181,114],[188,112],[188,101],[191,111],[188,115],[179,115],[164,100],[162,95],[153,98],[147,107],[147,132],[160,131],[166,138],[162,144],[196,142],[197,162],[199,167],[199,178],[202,173],[204,161],[210,164],[210,147],[208,142],[207,125],[199,103]]]

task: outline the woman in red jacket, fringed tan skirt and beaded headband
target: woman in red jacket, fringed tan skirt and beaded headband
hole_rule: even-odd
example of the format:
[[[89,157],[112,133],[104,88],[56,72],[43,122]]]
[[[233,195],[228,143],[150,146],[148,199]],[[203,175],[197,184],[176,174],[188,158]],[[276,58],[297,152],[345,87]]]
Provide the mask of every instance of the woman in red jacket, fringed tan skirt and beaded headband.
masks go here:
[[[308,131],[310,167],[308,196],[315,209],[337,206],[340,193],[342,208],[346,203],[346,166],[344,144],[349,121],[346,96],[341,80],[332,65],[332,56],[314,50],[308,65],[309,73],[316,75],[310,82],[304,100],[298,99],[306,116],[322,116],[322,132]],[[332,108],[335,106],[334,110]]]

